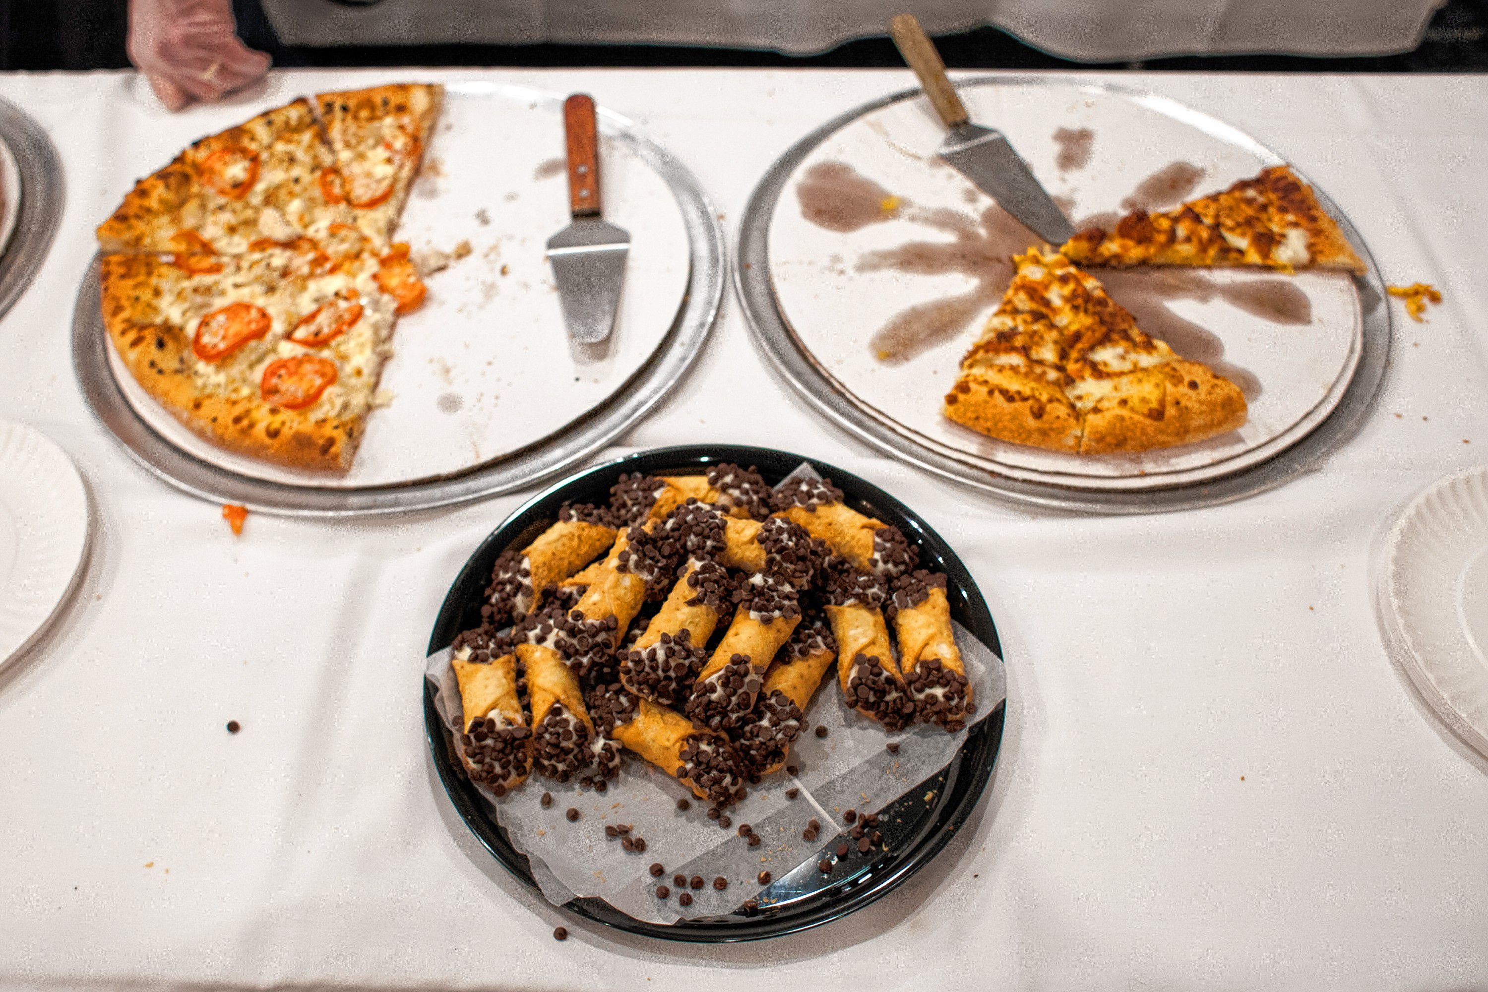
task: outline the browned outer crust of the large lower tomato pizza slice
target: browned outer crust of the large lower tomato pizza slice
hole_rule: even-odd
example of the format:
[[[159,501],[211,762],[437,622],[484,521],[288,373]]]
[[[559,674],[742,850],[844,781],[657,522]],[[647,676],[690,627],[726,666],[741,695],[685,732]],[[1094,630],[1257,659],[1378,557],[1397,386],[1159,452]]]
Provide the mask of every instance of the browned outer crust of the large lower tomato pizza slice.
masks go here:
[[[190,373],[190,329],[162,323],[162,300],[186,274],[149,254],[103,257],[103,318],[134,378],[186,427],[231,451],[281,466],[344,471],[362,424],[263,403],[251,390],[207,391]]]

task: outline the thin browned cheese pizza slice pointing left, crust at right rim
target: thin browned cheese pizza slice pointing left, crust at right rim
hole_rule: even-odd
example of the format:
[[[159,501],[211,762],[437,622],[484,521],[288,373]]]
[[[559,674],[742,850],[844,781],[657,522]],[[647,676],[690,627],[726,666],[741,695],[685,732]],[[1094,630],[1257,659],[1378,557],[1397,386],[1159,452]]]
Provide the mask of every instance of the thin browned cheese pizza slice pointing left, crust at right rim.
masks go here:
[[[1202,265],[1363,272],[1317,195],[1286,165],[1192,199],[1176,210],[1126,214],[1113,231],[1091,228],[1059,251],[1079,265]]]

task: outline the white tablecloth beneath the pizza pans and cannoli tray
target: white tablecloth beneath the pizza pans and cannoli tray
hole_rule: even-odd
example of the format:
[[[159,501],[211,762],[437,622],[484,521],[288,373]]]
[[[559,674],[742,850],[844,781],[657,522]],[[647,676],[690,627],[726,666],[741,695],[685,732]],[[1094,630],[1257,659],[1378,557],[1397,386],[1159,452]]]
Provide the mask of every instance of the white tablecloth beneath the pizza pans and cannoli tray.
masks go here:
[[[277,74],[182,116],[126,74],[0,77],[68,170],[51,257],[0,323],[0,416],[71,454],[98,531],[60,628],[0,671],[0,988],[1485,988],[1488,763],[1387,660],[1369,567],[1403,500],[1488,452],[1488,79],[1122,77],[1247,128],[1348,211],[1387,281],[1445,292],[1427,324],[1397,314],[1363,434],[1234,506],[1082,518],[948,488],[814,416],[726,306],[695,375],[612,454],[783,446],[896,492],[981,583],[1010,705],[990,796],[911,883],[808,934],[690,947],[528,895],[433,775],[432,619],[525,495],[365,524],[253,516],[235,538],[137,468],[73,379],[92,226],[135,175],[262,106],[387,76]],[[487,77],[632,115],[729,225],[789,143],[909,82]]]

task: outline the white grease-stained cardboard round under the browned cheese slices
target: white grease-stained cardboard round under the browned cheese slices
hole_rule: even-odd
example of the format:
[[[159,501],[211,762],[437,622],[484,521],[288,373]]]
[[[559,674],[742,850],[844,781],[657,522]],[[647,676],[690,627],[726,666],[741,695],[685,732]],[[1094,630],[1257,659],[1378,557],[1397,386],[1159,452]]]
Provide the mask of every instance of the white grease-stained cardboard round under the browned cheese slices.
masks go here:
[[[1059,82],[969,85],[960,94],[973,120],[1007,132],[1077,222],[1123,213],[1129,208],[1123,201],[1144,180],[1174,164],[1187,164],[1201,175],[1192,184],[1170,184],[1168,202],[1149,199],[1144,205],[1201,196],[1277,164],[1274,155],[1238,131],[1161,97]],[[1055,140],[1061,129],[1091,132],[1083,165],[1071,164],[1071,158],[1080,158],[1070,155],[1071,143]],[[872,265],[872,253],[894,253],[911,242],[946,245],[955,239],[954,225],[985,231],[981,217],[995,205],[934,158],[942,137],[943,128],[924,98],[900,100],[856,117],[798,164],[771,217],[769,277],[781,314],[821,372],[860,409],[936,452],[1003,476],[1092,489],[1153,489],[1204,482],[1272,458],[1338,406],[1363,341],[1362,306],[1350,277],[1147,269],[1112,275],[1112,294],[1126,302],[1138,324],[1168,339],[1180,354],[1210,363],[1220,357],[1222,372],[1250,385],[1250,416],[1240,430],[1181,448],[1089,457],[997,442],[948,421],[940,413],[940,397],[1000,290],[987,293],[969,311],[958,333],[908,361],[879,361],[869,347],[873,335],[906,309],[978,289],[975,278],[954,269],[924,274]],[[891,220],[856,231],[820,226],[805,216],[798,190],[814,167],[835,162],[853,167],[912,205],[902,207]],[[1009,250],[1018,250],[1006,242],[969,236],[966,247],[973,254],[1006,257]],[[1025,244],[1036,242],[1027,236]],[[1152,292],[1153,284],[1176,278],[1193,286],[1184,293],[1171,287]],[[1309,311],[1311,320],[1296,323],[1295,314],[1272,320],[1225,299],[1242,293],[1286,293],[1289,303]],[[1177,335],[1183,321],[1190,324],[1186,339]]]

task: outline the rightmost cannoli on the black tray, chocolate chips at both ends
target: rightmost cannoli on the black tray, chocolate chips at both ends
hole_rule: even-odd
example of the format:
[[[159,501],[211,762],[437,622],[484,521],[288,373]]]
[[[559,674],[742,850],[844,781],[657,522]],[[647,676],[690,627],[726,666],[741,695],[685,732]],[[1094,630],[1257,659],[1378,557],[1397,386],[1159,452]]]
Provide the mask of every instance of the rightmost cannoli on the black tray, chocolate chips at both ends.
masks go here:
[[[920,718],[960,730],[976,703],[951,629],[945,576],[929,571],[900,576],[887,608],[899,638],[900,671]]]

